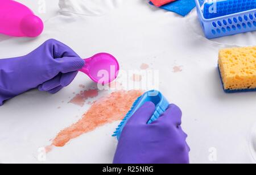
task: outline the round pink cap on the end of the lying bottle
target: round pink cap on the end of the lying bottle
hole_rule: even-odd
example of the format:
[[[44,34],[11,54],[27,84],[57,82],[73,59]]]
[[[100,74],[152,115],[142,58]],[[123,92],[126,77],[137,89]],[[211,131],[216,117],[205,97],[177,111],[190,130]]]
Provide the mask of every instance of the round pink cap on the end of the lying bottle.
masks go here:
[[[20,23],[20,30],[28,37],[36,37],[42,34],[44,24],[36,15],[25,16]]]

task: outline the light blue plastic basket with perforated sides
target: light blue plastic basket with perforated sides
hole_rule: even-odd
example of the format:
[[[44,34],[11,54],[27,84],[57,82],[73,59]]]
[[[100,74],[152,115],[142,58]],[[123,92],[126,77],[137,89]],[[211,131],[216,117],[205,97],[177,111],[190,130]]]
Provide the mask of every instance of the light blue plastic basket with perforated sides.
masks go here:
[[[204,17],[203,10],[201,9],[201,6],[204,4],[204,0],[195,1],[201,26],[205,37],[208,39],[256,30],[256,9],[206,19]]]

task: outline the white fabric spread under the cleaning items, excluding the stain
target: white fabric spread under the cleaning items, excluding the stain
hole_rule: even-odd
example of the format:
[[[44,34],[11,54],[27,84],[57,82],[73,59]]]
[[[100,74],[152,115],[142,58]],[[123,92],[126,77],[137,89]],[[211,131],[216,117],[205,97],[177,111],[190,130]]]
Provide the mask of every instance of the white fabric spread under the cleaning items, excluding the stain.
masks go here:
[[[124,70],[139,69],[143,62],[152,64],[152,69],[160,71],[159,90],[183,111],[191,163],[255,163],[256,95],[225,94],[217,59],[220,48],[255,44],[256,32],[207,40],[195,10],[182,18],[156,9],[146,0],[60,0],[57,15],[52,0],[46,4],[53,17],[44,14],[43,34],[35,39],[0,35],[1,58],[25,55],[54,38],[82,57],[113,53]],[[182,66],[183,71],[174,73],[174,66]],[[0,107],[0,162],[112,163],[117,141],[111,134],[118,122],[53,149],[45,162],[38,161],[38,148],[51,144],[49,140],[57,132],[89,108],[67,103],[73,91],[81,90],[80,84],[92,86],[89,78],[79,73],[70,86],[55,95],[32,90]],[[209,159],[212,150],[216,151],[214,161]]]

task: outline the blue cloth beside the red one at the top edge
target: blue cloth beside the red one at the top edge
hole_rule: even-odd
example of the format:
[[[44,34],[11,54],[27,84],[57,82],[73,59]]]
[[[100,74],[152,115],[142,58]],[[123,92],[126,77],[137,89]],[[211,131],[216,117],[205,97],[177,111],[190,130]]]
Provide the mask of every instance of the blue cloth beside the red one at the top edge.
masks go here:
[[[150,2],[151,5],[154,5]],[[181,16],[187,15],[191,10],[196,7],[195,0],[177,0],[175,2],[167,3],[166,5],[161,6],[161,9],[176,12]]]

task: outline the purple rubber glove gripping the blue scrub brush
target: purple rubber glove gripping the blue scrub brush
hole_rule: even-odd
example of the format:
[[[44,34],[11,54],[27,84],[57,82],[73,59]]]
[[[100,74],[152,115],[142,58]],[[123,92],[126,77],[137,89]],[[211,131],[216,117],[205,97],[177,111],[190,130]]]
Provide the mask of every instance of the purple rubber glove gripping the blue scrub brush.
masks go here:
[[[187,134],[181,129],[181,110],[170,105],[158,120],[146,124],[155,111],[145,103],[123,128],[114,164],[188,164]]]

